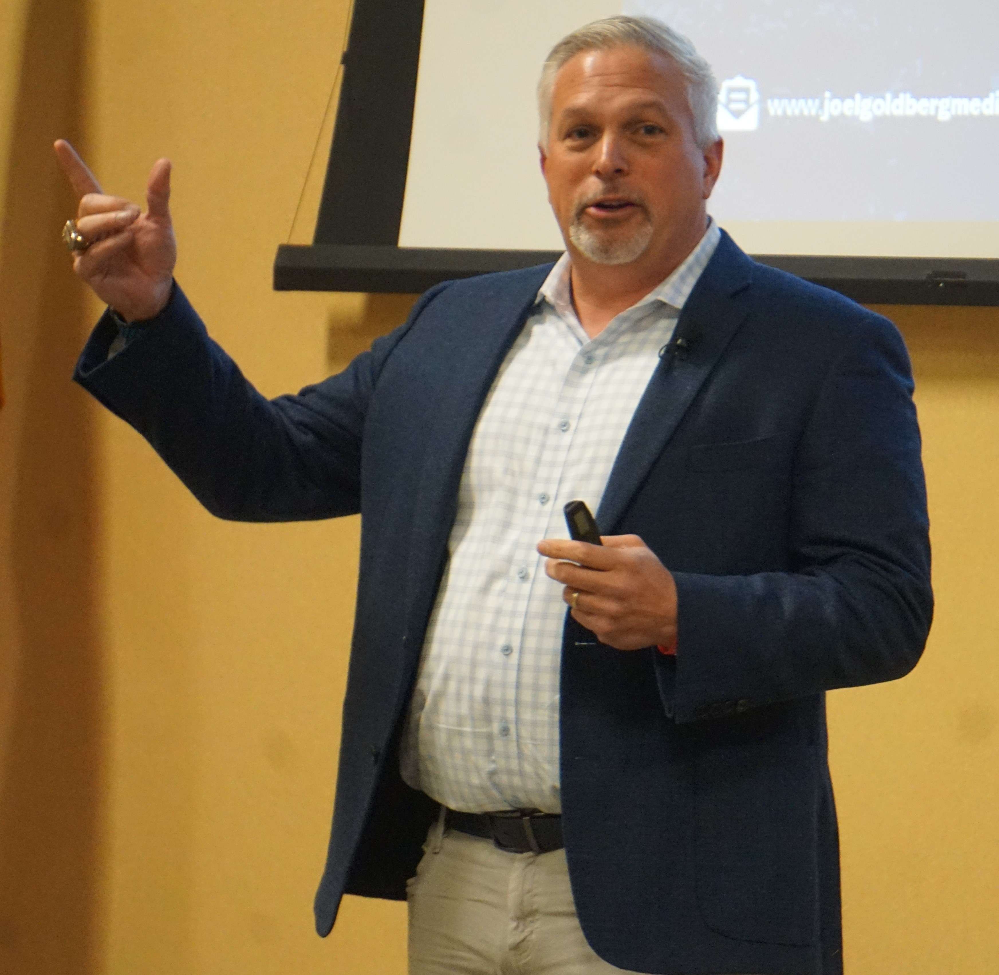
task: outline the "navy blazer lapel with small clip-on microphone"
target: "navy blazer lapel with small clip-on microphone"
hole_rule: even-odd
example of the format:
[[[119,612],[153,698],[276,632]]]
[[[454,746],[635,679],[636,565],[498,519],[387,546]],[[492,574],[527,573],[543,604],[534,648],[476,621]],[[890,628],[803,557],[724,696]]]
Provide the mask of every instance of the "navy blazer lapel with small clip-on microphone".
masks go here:
[[[613,533],[628,501],[745,321],[751,270],[752,261],[722,231],[676,323],[675,335],[686,340],[688,349],[659,363],[617,452],[596,512],[607,534]]]

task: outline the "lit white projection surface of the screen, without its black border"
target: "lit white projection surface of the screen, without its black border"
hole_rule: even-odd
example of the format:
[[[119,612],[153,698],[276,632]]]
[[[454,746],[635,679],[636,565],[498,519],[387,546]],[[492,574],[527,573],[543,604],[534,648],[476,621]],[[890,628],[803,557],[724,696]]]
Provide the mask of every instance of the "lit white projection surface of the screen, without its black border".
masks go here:
[[[534,95],[560,37],[648,14],[721,85],[709,211],[757,255],[999,258],[999,4],[426,0],[400,247],[559,250]]]

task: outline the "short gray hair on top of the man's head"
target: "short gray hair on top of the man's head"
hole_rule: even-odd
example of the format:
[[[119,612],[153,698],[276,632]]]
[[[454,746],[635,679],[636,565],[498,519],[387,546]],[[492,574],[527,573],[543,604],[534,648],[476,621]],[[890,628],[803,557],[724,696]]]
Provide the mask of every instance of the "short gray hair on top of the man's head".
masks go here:
[[[551,125],[551,93],[555,75],[566,61],[581,51],[605,51],[631,45],[655,54],[663,54],[680,70],[686,81],[687,102],[693,115],[693,135],[697,146],[706,149],[718,140],[718,83],[711,66],[693,44],[653,17],[628,17],[623,14],[594,20],[563,37],[548,53],[537,82],[537,111],[540,118],[540,143],[547,146]]]

